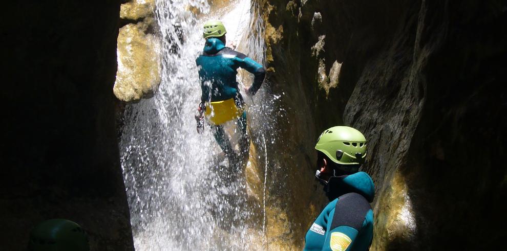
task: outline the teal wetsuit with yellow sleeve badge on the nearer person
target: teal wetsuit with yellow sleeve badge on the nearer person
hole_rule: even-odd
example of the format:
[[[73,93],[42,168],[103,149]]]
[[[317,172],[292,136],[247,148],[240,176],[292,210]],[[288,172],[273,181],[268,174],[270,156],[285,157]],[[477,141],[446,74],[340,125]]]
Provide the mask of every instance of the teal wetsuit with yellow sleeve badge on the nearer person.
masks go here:
[[[306,233],[304,250],[368,250],[373,239],[373,211],[368,203],[375,194],[373,180],[365,172],[333,177],[326,192],[332,201]],[[358,216],[357,209],[365,205]],[[354,217],[360,221],[353,222]]]

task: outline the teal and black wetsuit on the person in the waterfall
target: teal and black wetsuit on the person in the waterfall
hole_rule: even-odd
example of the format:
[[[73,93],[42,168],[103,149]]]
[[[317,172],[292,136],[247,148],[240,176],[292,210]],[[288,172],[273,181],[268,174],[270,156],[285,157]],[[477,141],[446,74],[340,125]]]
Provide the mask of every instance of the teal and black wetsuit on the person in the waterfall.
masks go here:
[[[199,67],[199,78],[201,80],[201,104],[206,101],[215,102],[233,98],[236,106],[242,107],[244,105],[243,98],[236,81],[238,68],[241,67],[254,74],[254,83],[250,87],[252,95],[259,90],[266,75],[262,65],[242,53],[225,47],[224,43],[215,37],[206,40],[203,52],[197,57],[196,63]],[[246,111],[243,112],[237,122],[242,133],[240,148],[244,150],[247,147]],[[223,126],[212,126],[212,129],[220,148],[226,154],[233,153]]]

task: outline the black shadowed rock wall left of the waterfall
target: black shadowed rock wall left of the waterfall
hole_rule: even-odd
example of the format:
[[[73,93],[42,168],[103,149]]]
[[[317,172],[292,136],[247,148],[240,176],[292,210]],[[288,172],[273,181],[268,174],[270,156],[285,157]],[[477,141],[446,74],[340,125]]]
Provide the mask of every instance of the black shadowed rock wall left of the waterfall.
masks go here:
[[[133,250],[112,93],[120,3],[3,6],[0,249],[67,218],[92,250]]]

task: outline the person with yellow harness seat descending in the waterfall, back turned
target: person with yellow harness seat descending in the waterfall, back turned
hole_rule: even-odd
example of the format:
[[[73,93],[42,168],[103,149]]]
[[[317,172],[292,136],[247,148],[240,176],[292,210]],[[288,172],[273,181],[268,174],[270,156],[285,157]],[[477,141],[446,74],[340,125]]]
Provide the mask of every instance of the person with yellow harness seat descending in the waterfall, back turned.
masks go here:
[[[266,71],[261,64],[225,46],[227,31],[221,21],[207,21],[203,29],[204,49],[196,59],[202,90],[201,103],[196,115],[197,131],[202,133],[205,117],[212,127],[215,140],[230,162],[238,155],[225,133],[223,127],[225,122],[236,120],[241,133],[240,151],[247,154],[249,147],[245,103],[236,81],[237,70],[241,67],[254,74],[254,83],[245,88],[248,96],[257,93],[264,81]]]

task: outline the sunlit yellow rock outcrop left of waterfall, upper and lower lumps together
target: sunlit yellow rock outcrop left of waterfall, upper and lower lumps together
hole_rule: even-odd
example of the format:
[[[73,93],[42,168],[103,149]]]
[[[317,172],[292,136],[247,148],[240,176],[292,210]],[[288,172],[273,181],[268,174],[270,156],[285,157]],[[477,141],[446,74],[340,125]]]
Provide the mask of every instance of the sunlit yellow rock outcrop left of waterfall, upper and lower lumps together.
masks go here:
[[[155,0],[122,4],[115,96],[125,102],[153,97],[160,84],[160,41],[155,36]]]

